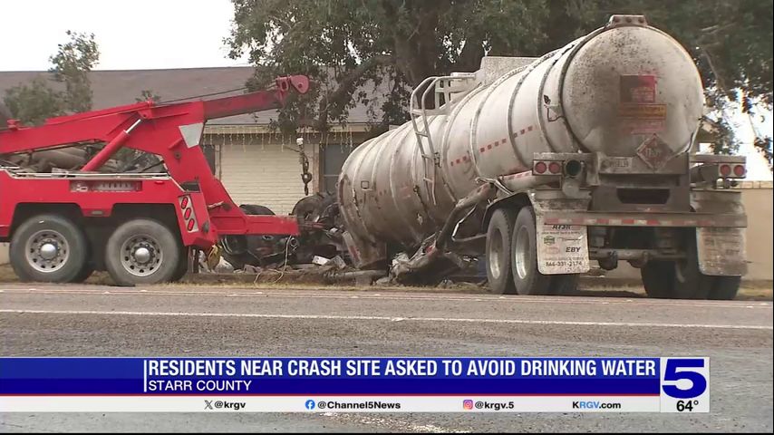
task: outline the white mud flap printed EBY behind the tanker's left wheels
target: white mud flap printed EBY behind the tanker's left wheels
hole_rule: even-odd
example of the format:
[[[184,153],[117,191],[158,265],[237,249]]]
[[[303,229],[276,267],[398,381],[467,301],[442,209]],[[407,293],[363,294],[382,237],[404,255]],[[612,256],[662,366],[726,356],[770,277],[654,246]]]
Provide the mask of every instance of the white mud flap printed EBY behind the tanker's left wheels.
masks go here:
[[[537,216],[537,270],[543,275],[588,272],[585,226],[550,225]]]

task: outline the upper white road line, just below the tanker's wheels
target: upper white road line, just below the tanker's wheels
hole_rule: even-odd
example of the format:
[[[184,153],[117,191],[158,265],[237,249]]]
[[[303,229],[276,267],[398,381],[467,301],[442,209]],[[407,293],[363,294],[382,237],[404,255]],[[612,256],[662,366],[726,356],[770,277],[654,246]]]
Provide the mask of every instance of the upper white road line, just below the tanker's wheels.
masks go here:
[[[272,293],[272,292],[250,292],[250,293],[224,293],[224,292],[191,292],[191,291],[155,291],[155,290],[116,290],[106,292],[103,290],[54,290],[54,289],[21,289],[21,288],[6,288],[0,289],[0,293],[7,294],[26,294],[26,295],[148,295],[148,296],[182,296],[182,295],[197,295],[197,296],[216,296],[216,297],[285,297],[285,298],[314,298],[314,299],[383,299],[393,301],[415,301],[415,300],[429,300],[429,301],[472,301],[472,302],[489,302],[499,301],[505,303],[518,303],[518,304],[642,304],[642,305],[658,305],[658,306],[705,306],[714,308],[772,308],[770,302],[760,301],[691,301],[682,300],[679,302],[672,302],[666,299],[647,299],[647,298],[631,298],[631,297],[616,297],[616,296],[568,296],[568,297],[540,297],[540,296],[497,296],[497,295],[455,295],[455,294],[438,294],[438,295],[347,295],[347,294],[330,294],[324,295],[321,293]],[[595,300],[596,299],[596,300]],[[752,305],[754,304],[754,305]]]

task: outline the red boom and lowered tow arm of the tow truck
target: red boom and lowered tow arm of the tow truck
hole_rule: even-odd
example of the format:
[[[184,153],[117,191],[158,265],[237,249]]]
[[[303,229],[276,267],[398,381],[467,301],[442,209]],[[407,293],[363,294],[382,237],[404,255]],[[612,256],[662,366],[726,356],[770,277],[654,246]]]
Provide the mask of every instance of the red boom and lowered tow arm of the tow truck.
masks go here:
[[[44,150],[84,142],[106,145],[82,170],[97,170],[122,147],[156,154],[180,185],[198,185],[207,199],[213,227],[220,234],[297,234],[295,219],[247,216],[209,169],[200,148],[204,123],[240,113],[281,107],[291,91],[305,93],[305,76],[280,77],[271,90],[209,101],[126,106],[52,118],[38,127],[8,122],[0,131],[0,154]],[[260,164],[261,162],[256,162]]]

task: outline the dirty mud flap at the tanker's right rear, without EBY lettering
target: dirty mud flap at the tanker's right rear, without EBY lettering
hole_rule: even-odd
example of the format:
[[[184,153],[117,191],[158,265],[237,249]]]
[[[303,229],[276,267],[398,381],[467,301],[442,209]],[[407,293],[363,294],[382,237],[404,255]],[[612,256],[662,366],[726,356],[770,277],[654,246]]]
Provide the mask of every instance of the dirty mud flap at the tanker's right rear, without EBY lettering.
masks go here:
[[[696,228],[699,270],[704,275],[747,273],[745,228]]]

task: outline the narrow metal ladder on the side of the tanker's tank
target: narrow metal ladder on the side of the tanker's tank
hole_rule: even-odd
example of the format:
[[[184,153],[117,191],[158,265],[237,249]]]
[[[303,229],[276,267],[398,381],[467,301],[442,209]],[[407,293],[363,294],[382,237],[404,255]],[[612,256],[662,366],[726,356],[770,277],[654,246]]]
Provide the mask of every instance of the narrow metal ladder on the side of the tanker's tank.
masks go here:
[[[444,75],[428,77],[411,91],[411,126],[420,146],[422,162],[424,164],[424,176],[422,180],[425,188],[431,194],[432,204],[438,201],[435,198],[435,179],[440,168],[440,153],[435,150],[430,132],[429,116],[449,114],[451,107],[460,96],[469,92],[476,86],[475,73],[458,73],[456,75]],[[421,95],[420,95],[421,92]],[[428,95],[433,93],[433,109],[428,109]],[[452,95],[456,94],[457,99]],[[421,118],[421,123],[418,121]],[[425,147],[425,140],[427,147]]]

